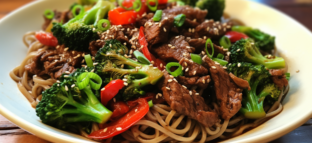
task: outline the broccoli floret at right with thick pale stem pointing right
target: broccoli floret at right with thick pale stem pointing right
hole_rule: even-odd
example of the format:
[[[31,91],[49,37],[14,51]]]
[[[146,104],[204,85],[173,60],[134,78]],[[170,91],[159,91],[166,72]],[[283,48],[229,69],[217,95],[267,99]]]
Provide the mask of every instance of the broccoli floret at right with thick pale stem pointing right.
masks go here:
[[[254,65],[264,65],[268,69],[281,69],[285,67],[285,60],[281,57],[273,56],[268,59],[259,52],[251,38],[241,39],[234,43],[231,47],[231,61],[249,62]]]

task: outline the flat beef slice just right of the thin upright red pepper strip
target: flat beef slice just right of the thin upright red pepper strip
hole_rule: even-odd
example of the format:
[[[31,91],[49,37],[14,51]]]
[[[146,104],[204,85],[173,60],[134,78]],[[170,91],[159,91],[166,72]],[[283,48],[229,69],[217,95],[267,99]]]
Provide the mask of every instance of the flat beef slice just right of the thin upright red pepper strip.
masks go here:
[[[175,46],[175,48],[172,49],[168,46],[169,44],[172,47]],[[152,53],[157,55],[156,57],[168,62],[179,62],[184,57],[183,53],[193,53],[193,50],[195,49],[188,45],[188,42],[185,41],[183,36],[179,36],[178,38],[172,37],[168,42],[162,44],[160,47],[151,48]],[[190,54],[188,54],[188,57],[190,58]]]

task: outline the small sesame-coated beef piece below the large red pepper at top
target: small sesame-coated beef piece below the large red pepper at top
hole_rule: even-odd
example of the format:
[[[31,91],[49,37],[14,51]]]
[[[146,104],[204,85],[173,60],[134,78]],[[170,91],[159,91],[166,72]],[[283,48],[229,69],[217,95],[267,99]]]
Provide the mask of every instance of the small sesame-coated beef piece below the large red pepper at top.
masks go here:
[[[112,27],[110,27],[109,30],[103,32],[101,34],[101,40],[107,40],[107,39],[116,39],[118,40],[120,43],[127,43],[129,44],[129,40],[128,38],[124,37],[124,32],[127,29],[123,28],[123,27],[119,27],[116,25],[113,25]],[[105,37],[107,37],[105,39]]]

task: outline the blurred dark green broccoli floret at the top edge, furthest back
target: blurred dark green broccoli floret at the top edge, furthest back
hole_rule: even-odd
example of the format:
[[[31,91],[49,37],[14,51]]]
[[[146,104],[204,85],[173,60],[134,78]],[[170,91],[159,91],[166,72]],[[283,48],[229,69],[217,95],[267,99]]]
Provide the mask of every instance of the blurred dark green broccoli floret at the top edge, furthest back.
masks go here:
[[[206,18],[219,21],[223,15],[225,0],[199,0],[196,2],[196,7],[208,10]]]

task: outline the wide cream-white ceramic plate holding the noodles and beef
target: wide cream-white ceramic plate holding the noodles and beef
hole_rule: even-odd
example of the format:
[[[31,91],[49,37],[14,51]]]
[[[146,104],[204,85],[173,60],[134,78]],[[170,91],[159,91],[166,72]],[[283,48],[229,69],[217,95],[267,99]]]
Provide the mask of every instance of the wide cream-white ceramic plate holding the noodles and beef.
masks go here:
[[[68,8],[75,0],[41,0],[17,9],[0,20],[0,113],[24,130],[57,143],[94,142],[81,136],[47,126],[36,116],[27,99],[18,90],[9,72],[26,56],[22,36],[40,30],[45,9]],[[312,34],[307,28],[270,7],[245,1],[226,0],[225,12],[246,25],[260,28],[276,36],[276,46],[289,65],[290,91],[283,101],[283,111],[264,124],[241,136],[223,141],[232,143],[268,142],[283,136],[305,123],[312,115],[310,62]],[[296,70],[300,72],[296,73]]]

